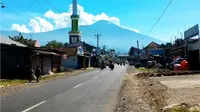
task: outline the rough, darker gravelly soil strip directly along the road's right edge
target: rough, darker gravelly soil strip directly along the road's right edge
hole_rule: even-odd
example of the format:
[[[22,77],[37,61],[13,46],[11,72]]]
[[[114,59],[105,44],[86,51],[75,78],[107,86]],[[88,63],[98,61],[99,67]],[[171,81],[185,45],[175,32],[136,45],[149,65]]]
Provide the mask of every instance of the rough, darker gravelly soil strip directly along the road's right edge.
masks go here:
[[[137,74],[130,71],[135,71]],[[128,69],[121,85],[115,112],[162,111],[167,105],[167,87],[147,76]]]

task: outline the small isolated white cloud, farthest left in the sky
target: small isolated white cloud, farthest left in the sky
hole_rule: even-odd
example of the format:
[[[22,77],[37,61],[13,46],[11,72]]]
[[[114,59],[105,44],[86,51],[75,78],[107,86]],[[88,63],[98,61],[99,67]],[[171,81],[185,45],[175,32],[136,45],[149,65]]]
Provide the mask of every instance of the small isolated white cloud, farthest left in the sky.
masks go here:
[[[30,33],[30,30],[26,27],[26,25],[12,24],[11,29],[18,32]]]

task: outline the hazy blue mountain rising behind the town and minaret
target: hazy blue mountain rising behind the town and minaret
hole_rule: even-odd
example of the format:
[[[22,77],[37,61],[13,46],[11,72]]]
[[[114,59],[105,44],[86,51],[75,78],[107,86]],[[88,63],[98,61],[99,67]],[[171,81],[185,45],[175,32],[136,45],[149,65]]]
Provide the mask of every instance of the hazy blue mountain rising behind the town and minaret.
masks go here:
[[[61,42],[68,42],[70,28],[62,28],[50,32],[31,33],[31,38],[38,40],[41,45],[46,44],[48,41],[57,40]],[[165,43],[156,38],[152,38],[141,33],[124,29],[108,21],[98,21],[92,25],[80,26],[82,32],[82,41],[96,46],[96,37],[94,36],[97,31],[101,33],[100,46],[106,45],[108,48],[117,49],[120,52],[127,52],[131,46],[137,46],[139,40],[140,48],[148,45],[154,41],[158,44]],[[1,36],[8,37],[18,35],[16,31],[1,31]],[[29,33],[23,33],[24,37],[29,38]]]

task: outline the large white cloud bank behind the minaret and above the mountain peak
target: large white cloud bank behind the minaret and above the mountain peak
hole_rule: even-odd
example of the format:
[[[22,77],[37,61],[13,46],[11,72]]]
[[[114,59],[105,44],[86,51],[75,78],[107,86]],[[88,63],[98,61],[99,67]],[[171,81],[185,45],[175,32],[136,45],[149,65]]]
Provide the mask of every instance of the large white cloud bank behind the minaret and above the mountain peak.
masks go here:
[[[55,13],[52,10],[47,11],[44,17],[53,21],[53,23],[48,22],[44,18],[36,17],[31,19],[29,26],[32,27],[32,32],[47,32],[54,29],[65,28],[71,26],[71,16],[72,14],[72,4],[69,5],[69,10],[67,12]],[[85,12],[83,6],[78,5],[78,14],[80,15],[79,24],[80,25],[91,25],[100,20],[110,21],[117,26],[124,29],[128,29],[139,33],[138,29],[124,27],[120,24],[120,19],[117,17],[109,17],[106,13],[93,15],[91,13]],[[52,25],[54,24],[54,25]],[[25,26],[26,27],[26,26]],[[28,29],[27,29],[28,30]]]

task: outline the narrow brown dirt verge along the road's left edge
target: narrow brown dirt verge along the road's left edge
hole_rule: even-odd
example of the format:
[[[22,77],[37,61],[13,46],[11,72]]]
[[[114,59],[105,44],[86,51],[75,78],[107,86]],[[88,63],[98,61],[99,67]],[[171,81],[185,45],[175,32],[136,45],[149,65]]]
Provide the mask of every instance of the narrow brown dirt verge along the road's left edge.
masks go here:
[[[94,70],[96,70],[96,69],[89,68],[86,70],[76,70],[73,72],[61,73],[59,75],[56,74],[56,75],[44,76],[44,77],[42,77],[40,82],[36,82],[34,80],[31,83],[23,83],[23,84],[17,84],[17,85],[12,85],[12,86],[1,87],[0,88],[1,96],[9,96],[9,95],[15,94],[17,92],[24,91],[28,88],[35,88],[35,87],[41,86],[48,82],[52,82],[52,81],[59,80],[59,79],[65,79],[65,78],[76,76],[76,75],[81,75],[83,73],[91,72]]]

